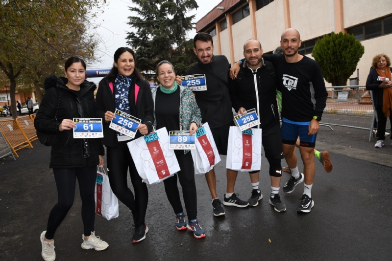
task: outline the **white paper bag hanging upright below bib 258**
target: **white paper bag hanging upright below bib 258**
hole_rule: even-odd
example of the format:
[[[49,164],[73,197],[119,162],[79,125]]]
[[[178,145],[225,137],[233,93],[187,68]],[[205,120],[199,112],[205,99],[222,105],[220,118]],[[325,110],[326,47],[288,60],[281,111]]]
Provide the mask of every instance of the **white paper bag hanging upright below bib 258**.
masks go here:
[[[233,171],[259,171],[261,168],[261,129],[230,127],[226,168]]]

